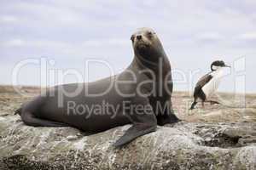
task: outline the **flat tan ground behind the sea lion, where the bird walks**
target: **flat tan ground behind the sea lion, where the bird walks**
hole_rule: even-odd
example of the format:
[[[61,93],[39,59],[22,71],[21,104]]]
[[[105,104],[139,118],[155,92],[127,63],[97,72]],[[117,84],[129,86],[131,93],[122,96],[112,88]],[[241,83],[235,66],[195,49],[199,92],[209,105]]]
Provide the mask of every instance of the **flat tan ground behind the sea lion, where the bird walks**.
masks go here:
[[[0,86],[0,116],[13,114],[19,106],[40,94],[37,87]],[[21,93],[20,93],[21,92]],[[199,103],[189,111],[192,96],[188,92],[174,92],[172,104],[177,116],[185,122],[256,122],[256,94],[218,93],[221,105]]]

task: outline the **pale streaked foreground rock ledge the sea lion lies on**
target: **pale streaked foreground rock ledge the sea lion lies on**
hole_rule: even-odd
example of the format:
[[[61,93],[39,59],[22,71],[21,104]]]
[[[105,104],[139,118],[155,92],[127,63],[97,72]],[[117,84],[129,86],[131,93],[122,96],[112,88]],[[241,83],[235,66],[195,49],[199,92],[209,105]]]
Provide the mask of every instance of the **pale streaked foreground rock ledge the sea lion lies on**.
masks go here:
[[[84,136],[72,127],[27,127],[18,120],[19,116],[8,116],[0,122],[0,167],[240,170],[256,166],[255,125],[179,122],[114,149],[111,144],[130,125]]]

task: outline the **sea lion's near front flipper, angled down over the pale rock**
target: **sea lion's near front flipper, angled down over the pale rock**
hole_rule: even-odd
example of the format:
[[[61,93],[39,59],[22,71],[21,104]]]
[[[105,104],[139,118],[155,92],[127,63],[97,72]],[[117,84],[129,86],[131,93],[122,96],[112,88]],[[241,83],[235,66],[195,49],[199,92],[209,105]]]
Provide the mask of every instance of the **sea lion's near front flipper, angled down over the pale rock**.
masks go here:
[[[130,127],[125,134],[113,144],[114,147],[121,146],[123,144],[127,144],[131,142],[133,139],[137,139],[137,137],[143,136],[144,134],[154,132],[157,127],[157,119],[154,116],[154,112],[151,108],[151,105],[146,104],[148,99],[143,99],[143,103],[138,102],[136,105],[143,105],[143,110],[141,111],[131,111],[128,114],[128,118],[132,122],[132,127]],[[142,101],[142,100],[141,100]],[[133,106],[136,106],[133,105]],[[145,111],[145,109],[147,111]]]

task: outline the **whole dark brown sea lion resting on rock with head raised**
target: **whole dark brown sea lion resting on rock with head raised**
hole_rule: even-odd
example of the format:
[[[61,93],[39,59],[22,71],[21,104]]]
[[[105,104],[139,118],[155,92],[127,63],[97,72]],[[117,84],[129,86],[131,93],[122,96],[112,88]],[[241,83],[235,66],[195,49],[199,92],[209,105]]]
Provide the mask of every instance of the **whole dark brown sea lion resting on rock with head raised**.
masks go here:
[[[114,146],[154,132],[157,125],[178,122],[172,110],[171,65],[160,39],[152,29],[141,28],[131,42],[134,59],[125,71],[96,82],[49,88],[16,113],[26,125],[71,126],[88,133],[131,123]]]

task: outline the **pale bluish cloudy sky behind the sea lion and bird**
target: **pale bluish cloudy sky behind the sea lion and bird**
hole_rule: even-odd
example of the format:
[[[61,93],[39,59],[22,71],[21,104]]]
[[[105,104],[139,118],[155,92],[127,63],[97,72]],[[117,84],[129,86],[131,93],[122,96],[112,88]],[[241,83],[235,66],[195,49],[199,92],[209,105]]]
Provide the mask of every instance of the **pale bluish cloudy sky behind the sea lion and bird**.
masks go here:
[[[0,0],[0,84],[51,86],[119,73],[131,63],[130,37],[140,27],[160,37],[174,90],[192,90],[223,59],[232,68],[219,90],[256,93],[255,0]],[[86,70],[88,59],[104,63]],[[58,71],[70,74],[60,82]]]

